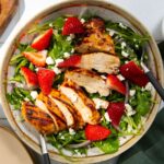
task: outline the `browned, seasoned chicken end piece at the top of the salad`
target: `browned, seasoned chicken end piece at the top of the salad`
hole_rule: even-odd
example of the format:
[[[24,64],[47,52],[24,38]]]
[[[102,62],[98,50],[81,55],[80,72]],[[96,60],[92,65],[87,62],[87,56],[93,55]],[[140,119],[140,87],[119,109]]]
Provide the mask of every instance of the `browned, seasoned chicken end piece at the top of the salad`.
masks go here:
[[[80,54],[104,51],[115,55],[113,38],[105,33],[104,22],[93,19],[85,23],[85,37],[75,46]]]

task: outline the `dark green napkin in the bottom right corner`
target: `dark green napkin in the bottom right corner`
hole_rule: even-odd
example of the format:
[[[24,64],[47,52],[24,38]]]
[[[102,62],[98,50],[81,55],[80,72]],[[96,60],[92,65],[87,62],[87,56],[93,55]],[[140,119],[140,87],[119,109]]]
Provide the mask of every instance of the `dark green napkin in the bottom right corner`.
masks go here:
[[[120,155],[118,164],[164,164],[164,109],[145,136]]]

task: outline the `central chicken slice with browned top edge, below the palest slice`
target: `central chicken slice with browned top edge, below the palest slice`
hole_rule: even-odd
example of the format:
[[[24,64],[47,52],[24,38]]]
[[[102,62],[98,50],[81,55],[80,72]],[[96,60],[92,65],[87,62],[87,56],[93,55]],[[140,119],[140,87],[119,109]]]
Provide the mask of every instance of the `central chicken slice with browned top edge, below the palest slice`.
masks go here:
[[[83,86],[89,93],[99,93],[101,96],[107,96],[110,92],[105,81],[93,71],[75,69],[67,71],[65,78]]]

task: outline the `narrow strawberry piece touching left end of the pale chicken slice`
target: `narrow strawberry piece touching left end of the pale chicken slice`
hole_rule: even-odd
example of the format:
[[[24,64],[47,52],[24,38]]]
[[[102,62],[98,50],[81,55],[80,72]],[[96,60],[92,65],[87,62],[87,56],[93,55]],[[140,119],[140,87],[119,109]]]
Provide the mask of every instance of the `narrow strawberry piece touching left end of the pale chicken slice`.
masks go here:
[[[81,56],[73,55],[69,59],[66,59],[65,61],[58,63],[59,68],[67,68],[67,67],[75,67],[78,63],[80,63]]]

